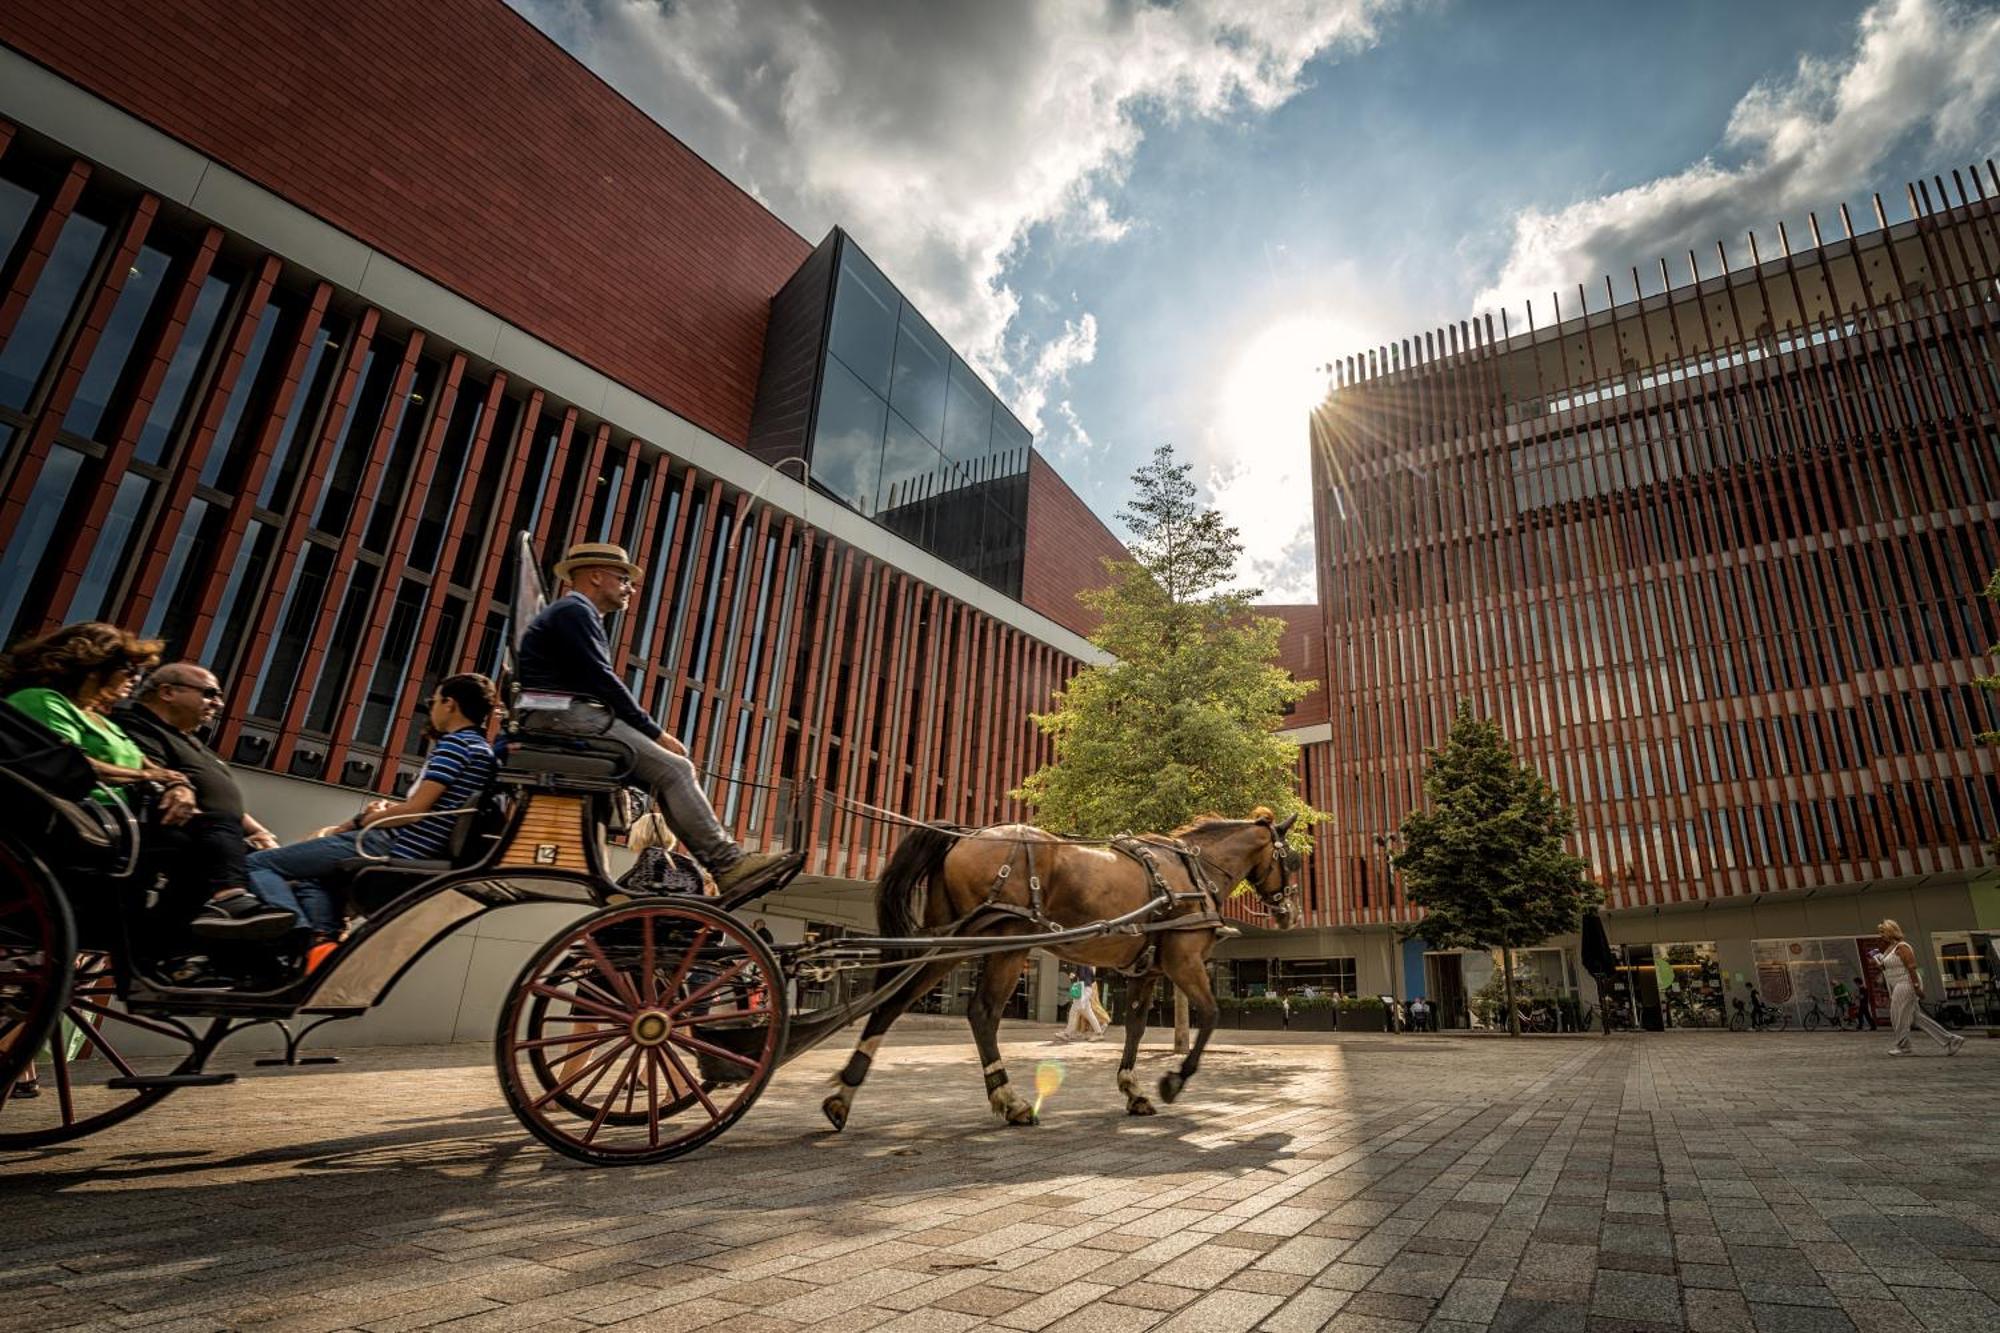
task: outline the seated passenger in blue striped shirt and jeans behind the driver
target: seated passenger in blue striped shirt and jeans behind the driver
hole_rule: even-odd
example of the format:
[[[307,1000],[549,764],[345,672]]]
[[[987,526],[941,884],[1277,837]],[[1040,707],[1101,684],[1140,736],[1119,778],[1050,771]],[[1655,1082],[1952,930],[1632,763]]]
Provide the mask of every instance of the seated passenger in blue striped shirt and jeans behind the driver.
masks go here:
[[[340,939],[346,903],[320,881],[342,861],[360,855],[392,861],[444,857],[456,815],[436,815],[372,829],[388,819],[426,811],[462,811],[478,801],[494,777],[494,751],[486,727],[500,703],[494,683],[476,673],[448,677],[430,697],[430,731],[436,743],[424,771],[402,801],[370,801],[346,825],[320,837],[250,855],[250,887],[260,895],[296,895],[312,927],[314,945]]]

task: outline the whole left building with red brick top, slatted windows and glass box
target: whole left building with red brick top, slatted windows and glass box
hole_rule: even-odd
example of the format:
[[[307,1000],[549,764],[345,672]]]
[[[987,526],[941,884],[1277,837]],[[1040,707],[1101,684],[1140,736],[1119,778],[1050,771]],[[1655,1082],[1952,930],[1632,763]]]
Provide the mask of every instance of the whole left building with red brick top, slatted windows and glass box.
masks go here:
[[[298,835],[402,791],[430,683],[498,664],[516,530],[644,562],[616,664],[752,845],[798,773],[1020,815],[1118,552],[854,238],[498,0],[0,14],[0,636],[212,664]],[[810,827],[784,931],[866,915],[830,889],[894,843]]]

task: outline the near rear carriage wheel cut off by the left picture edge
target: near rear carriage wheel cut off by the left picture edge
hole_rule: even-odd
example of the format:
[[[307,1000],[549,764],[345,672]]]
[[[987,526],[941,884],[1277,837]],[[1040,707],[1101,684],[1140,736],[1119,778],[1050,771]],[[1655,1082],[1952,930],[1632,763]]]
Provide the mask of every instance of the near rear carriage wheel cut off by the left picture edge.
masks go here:
[[[56,879],[32,855],[0,841],[0,1115],[14,1079],[28,1073],[56,1027],[74,953],[76,923]]]

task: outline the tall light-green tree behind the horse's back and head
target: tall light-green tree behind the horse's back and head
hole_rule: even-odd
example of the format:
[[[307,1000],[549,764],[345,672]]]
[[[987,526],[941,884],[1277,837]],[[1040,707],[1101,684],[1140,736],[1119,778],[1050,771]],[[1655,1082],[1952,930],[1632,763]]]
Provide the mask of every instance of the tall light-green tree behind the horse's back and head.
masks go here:
[[[1012,793],[1040,827],[1082,837],[1174,829],[1196,815],[1256,805],[1298,815],[1310,847],[1324,819],[1294,791],[1298,747],[1276,735],[1314,683],[1276,664],[1284,622],[1228,590],[1242,542],[1204,508],[1192,466],[1170,444],[1132,474],[1120,512],[1132,560],[1106,560],[1108,584],[1080,594],[1100,620],[1090,642],[1112,660],[1084,666],[1036,725],[1054,759]],[[1176,1029],[1186,1001],[1176,995]]]

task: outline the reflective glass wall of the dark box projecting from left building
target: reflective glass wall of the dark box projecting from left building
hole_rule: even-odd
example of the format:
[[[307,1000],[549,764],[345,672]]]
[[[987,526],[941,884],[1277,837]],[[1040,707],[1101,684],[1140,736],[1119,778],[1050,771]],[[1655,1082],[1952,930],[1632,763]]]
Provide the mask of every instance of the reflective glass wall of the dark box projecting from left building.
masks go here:
[[[844,232],[808,458],[818,490],[1020,596],[1028,428]]]

